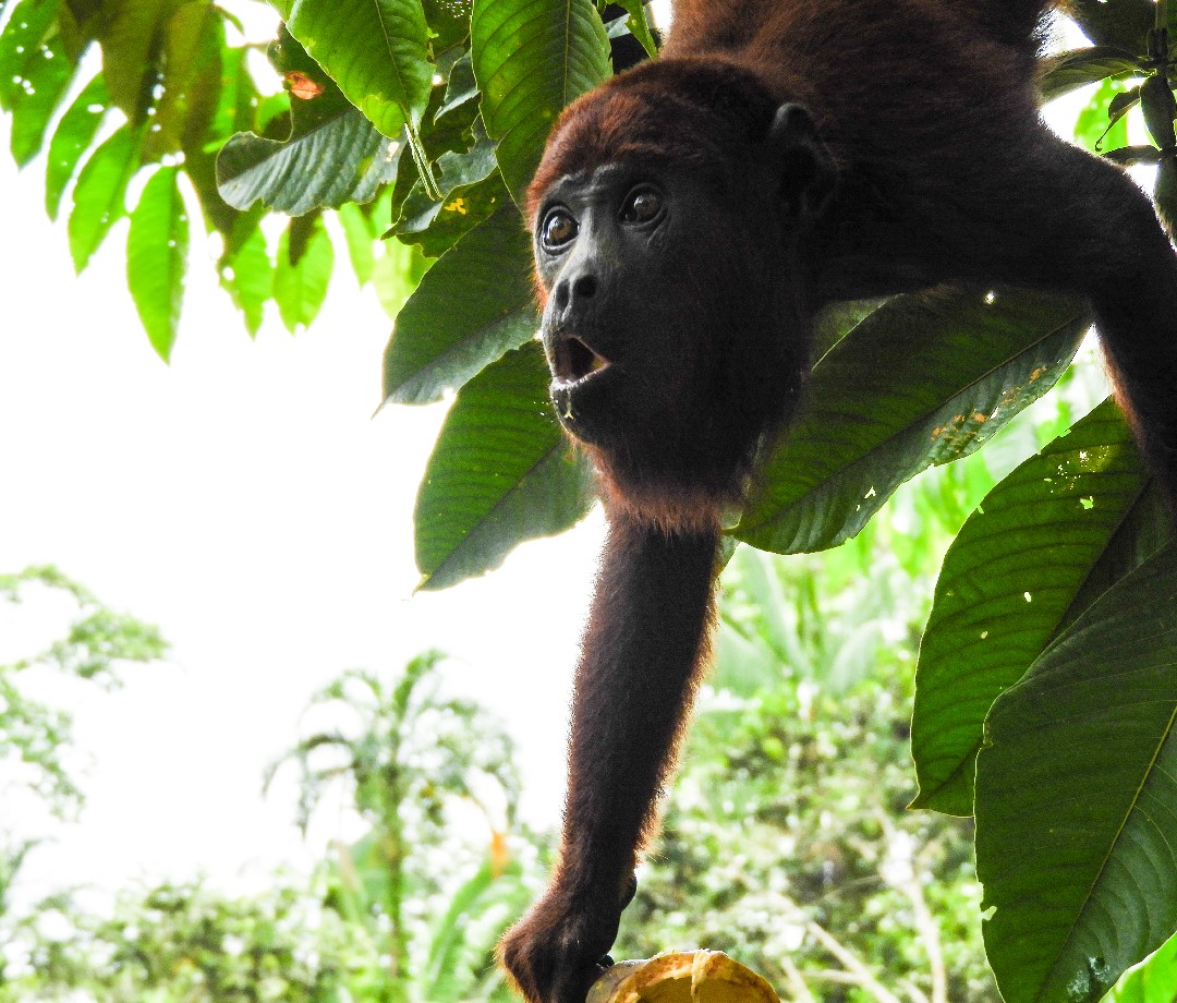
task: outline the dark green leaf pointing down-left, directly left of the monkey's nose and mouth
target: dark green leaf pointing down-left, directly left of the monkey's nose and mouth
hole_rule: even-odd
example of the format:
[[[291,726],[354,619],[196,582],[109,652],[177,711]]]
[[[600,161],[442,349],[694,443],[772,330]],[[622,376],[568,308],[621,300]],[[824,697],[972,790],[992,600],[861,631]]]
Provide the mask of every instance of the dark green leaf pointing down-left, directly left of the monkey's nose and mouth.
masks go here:
[[[538,326],[531,241],[508,204],[443,254],[398,314],[384,353],[385,398],[440,400]]]

